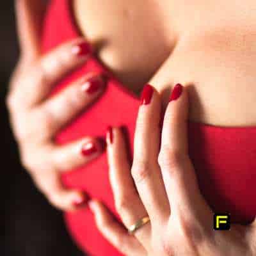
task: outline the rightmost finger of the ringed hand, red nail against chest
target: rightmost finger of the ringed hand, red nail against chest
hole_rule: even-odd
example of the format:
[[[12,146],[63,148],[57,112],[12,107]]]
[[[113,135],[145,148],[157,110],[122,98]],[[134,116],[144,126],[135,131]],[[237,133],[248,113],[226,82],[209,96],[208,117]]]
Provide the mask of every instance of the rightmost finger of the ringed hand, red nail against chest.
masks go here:
[[[164,115],[159,165],[172,212],[189,215],[202,212],[205,202],[188,155],[188,93],[184,86],[177,84],[170,100]]]

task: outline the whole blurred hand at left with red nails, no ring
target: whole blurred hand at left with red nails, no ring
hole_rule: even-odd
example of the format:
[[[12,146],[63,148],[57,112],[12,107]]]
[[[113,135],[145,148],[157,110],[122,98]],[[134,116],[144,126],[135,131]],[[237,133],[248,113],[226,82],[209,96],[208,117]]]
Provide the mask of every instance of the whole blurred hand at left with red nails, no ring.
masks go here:
[[[95,159],[104,147],[90,136],[64,146],[53,139],[63,125],[104,92],[104,79],[87,74],[47,99],[52,86],[88,60],[91,51],[83,38],[77,38],[41,56],[38,25],[44,7],[43,1],[16,1],[21,54],[6,104],[23,166],[52,205],[72,211],[84,205],[86,196],[65,188],[61,172]]]

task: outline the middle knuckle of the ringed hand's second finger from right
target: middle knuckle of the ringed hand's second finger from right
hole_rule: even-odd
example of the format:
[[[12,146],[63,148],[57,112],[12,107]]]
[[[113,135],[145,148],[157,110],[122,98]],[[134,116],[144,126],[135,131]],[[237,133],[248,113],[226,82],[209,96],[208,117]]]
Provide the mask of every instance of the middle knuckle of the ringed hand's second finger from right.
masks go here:
[[[150,175],[149,161],[136,160],[132,163],[131,175],[136,183],[143,182]]]

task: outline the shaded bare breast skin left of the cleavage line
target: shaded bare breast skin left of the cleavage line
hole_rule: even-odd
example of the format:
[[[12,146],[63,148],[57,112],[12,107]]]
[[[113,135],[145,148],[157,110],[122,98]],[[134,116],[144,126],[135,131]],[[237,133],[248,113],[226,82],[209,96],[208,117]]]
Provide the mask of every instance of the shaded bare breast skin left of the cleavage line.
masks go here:
[[[157,1],[75,0],[73,7],[78,26],[97,47],[99,59],[134,92],[172,51],[170,26]]]

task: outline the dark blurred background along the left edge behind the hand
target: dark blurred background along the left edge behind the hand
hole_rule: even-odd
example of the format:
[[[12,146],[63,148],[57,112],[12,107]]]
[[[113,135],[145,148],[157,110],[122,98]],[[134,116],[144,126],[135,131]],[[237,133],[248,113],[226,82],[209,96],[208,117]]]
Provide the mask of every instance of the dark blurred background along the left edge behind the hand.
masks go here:
[[[81,256],[83,253],[78,251],[65,230],[61,212],[46,202],[20,166],[4,103],[8,80],[19,57],[15,15],[13,1],[1,1],[0,5],[0,184],[3,202],[0,255]]]

